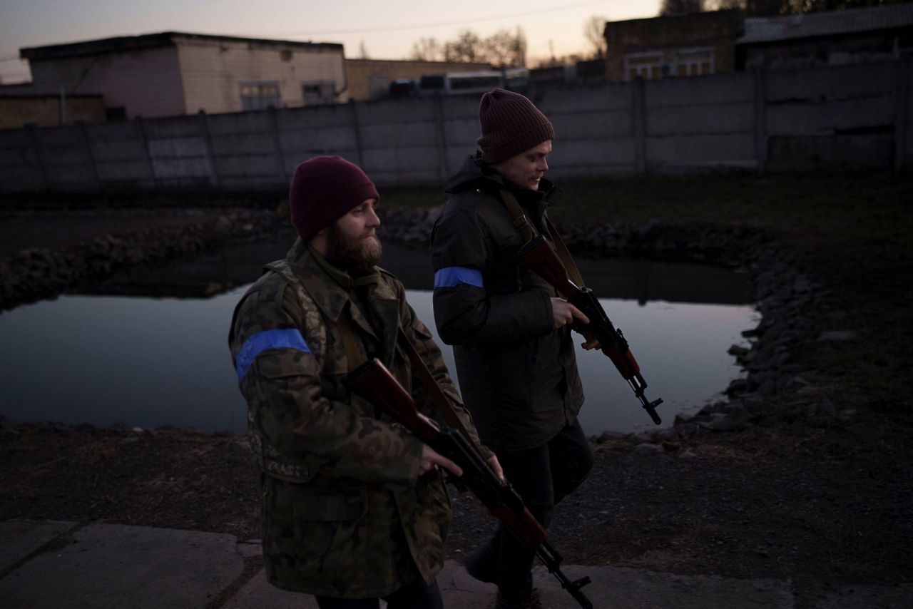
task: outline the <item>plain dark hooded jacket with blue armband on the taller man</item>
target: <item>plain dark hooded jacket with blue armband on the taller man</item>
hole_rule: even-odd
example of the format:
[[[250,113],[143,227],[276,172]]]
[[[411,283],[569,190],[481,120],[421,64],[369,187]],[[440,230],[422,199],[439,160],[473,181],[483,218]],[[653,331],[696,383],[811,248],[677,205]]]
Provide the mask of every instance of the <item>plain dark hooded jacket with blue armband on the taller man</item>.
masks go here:
[[[523,237],[501,188],[541,231],[551,184],[519,189],[470,158],[446,184],[431,238],[437,331],[454,345],[460,393],[495,451],[544,444],[583,403],[571,330],[554,329],[554,289],[517,256]]]

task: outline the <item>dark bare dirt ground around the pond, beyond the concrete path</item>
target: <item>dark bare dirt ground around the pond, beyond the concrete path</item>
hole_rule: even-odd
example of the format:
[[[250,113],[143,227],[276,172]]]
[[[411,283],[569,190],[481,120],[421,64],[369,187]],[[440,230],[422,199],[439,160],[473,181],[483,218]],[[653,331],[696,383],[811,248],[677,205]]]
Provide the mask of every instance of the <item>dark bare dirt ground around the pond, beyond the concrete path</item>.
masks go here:
[[[53,247],[162,221],[115,215],[81,224],[6,218],[0,244]],[[898,431],[880,411],[843,403],[839,392],[832,400],[837,412],[856,414],[783,413],[764,425],[677,439],[648,456],[630,439],[594,446],[593,473],[561,503],[553,545],[571,563],[790,579],[800,607],[837,584],[913,581],[908,442],[895,441]],[[259,537],[257,471],[243,437],[0,421],[0,455],[0,519]],[[448,547],[459,558],[493,521],[465,495],[454,492],[453,503]]]

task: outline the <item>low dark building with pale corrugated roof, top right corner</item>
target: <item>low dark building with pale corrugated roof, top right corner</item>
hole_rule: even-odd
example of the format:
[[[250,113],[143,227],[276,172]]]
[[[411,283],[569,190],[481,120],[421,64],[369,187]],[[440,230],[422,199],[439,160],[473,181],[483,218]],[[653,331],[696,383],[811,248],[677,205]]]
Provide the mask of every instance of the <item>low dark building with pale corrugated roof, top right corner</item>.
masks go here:
[[[913,49],[913,4],[749,17],[740,68],[806,68],[897,58]]]

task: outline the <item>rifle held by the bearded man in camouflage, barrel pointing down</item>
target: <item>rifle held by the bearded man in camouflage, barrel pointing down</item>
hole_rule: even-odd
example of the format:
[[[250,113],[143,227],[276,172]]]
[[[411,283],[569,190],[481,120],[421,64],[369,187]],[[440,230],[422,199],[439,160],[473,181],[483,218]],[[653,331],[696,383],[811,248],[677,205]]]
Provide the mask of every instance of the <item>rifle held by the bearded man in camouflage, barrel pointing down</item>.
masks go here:
[[[376,358],[346,374],[342,383],[353,394],[379,406],[419,440],[461,467],[463,476],[458,478],[459,481],[472,491],[492,516],[508,527],[520,543],[535,548],[545,567],[583,609],[593,609],[593,604],[580,590],[590,583],[590,578],[571,581],[561,572],[561,554],[546,540],[542,525],[523,505],[517,491],[495,476],[480,457],[476,446],[470,444],[465,436],[454,427],[438,425],[419,413],[412,396]]]

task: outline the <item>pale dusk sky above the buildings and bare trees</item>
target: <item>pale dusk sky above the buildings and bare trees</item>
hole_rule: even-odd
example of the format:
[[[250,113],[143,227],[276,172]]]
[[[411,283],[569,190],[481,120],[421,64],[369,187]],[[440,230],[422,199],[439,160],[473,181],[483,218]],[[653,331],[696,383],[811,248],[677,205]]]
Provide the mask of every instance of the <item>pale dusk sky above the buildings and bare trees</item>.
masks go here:
[[[165,31],[336,42],[350,58],[363,44],[369,58],[404,59],[419,38],[444,42],[467,28],[487,37],[520,26],[533,63],[551,52],[589,52],[583,26],[590,16],[656,16],[658,6],[659,0],[0,0],[0,80],[30,78],[18,59],[22,47]]]

